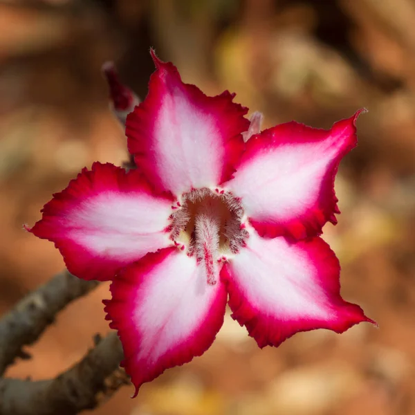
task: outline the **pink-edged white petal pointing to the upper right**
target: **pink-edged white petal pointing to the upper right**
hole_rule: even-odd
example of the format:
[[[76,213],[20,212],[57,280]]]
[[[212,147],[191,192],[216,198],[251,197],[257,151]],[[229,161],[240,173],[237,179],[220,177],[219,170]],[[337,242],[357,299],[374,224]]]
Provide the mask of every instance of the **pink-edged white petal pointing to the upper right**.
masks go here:
[[[234,178],[224,186],[242,199],[250,223],[262,236],[295,239],[322,232],[339,213],[334,178],[342,157],[356,146],[356,119],[330,130],[288,122],[247,142]]]

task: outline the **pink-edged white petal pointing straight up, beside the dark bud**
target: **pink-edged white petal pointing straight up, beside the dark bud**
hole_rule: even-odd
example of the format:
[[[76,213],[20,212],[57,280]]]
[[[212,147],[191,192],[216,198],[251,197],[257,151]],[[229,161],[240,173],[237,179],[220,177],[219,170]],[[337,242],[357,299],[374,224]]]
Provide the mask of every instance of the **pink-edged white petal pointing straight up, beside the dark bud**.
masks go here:
[[[159,190],[178,195],[228,180],[243,151],[247,109],[225,91],[206,96],[183,84],[172,63],[151,51],[156,72],[147,98],[127,117],[129,151]]]

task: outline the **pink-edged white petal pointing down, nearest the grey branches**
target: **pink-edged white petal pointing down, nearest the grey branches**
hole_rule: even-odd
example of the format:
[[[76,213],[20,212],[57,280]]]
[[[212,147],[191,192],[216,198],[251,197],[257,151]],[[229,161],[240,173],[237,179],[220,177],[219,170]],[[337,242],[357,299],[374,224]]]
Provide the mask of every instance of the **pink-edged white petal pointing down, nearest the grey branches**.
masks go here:
[[[111,293],[105,310],[118,330],[122,365],[136,394],[165,369],[201,356],[223,324],[225,286],[208,284],[203,267],[176,248],[148,254],[122,270]]]

